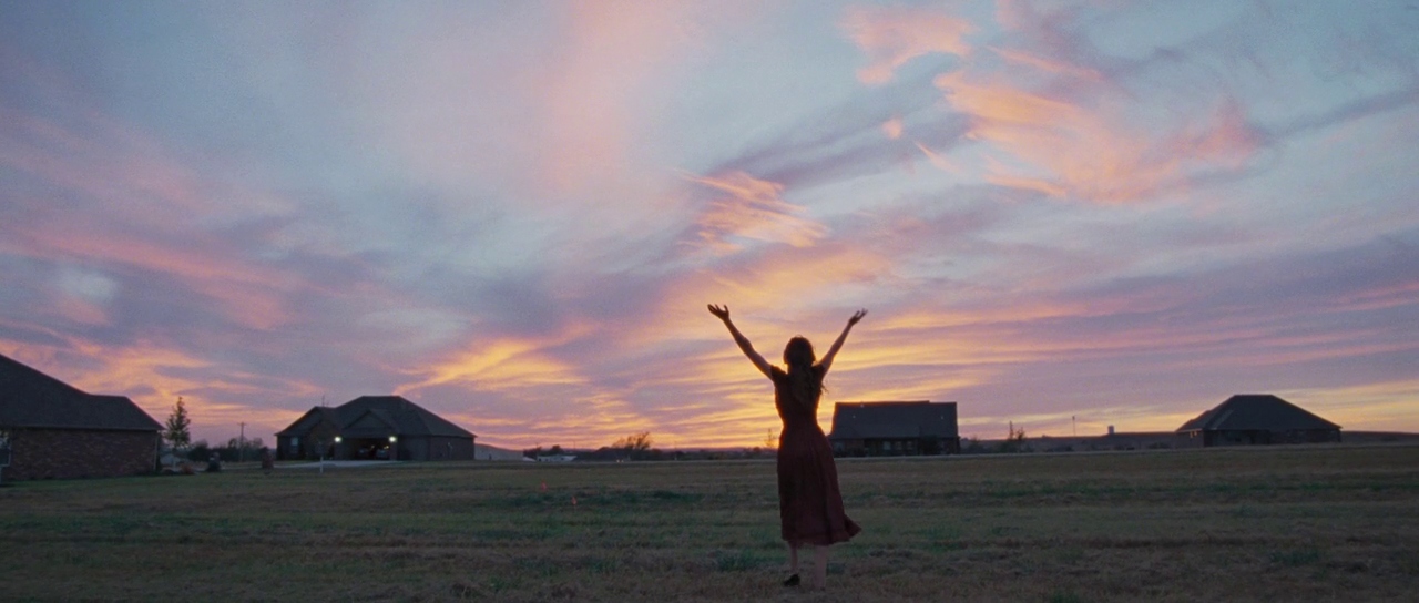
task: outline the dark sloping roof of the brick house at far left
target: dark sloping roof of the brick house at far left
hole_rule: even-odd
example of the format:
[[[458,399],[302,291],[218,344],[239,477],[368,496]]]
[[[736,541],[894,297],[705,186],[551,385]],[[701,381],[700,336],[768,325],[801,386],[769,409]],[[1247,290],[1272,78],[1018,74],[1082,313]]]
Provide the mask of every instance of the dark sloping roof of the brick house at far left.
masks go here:
[[[0,355],[0,426],[160,431],[123,396],[95,396]]]

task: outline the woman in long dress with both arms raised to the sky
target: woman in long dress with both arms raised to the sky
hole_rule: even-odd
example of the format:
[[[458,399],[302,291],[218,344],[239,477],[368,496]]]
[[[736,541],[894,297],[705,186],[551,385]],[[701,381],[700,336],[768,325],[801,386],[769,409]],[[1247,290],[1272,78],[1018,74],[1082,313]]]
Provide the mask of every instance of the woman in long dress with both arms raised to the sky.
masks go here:
[[[867,315],[857,311],[847,319],[843,335],[822,362],[815,362],[813,343],[797,336],[783,348],[783,365],[788,370],[769,365],[753,345],[729,321],[729,308],[710,305],[710,314],[719,316],[729,328],[734,342],[765,376],[773,382],[773,406],[783,420],[779,433],[779,521],[783,541],[789,545],[789,572],[783,586],[797,586],[799,548],[813,546],[813,587],[827,583],[827,548],[861,532],[861,528],[843,512],[843,494],[837,488],[837,465],[833,463],[833,447],[817,426],[817,402],[823,396],[823,376],[833,366],[833,358],[847,341],[847,332]]]

